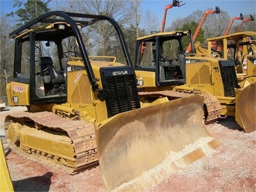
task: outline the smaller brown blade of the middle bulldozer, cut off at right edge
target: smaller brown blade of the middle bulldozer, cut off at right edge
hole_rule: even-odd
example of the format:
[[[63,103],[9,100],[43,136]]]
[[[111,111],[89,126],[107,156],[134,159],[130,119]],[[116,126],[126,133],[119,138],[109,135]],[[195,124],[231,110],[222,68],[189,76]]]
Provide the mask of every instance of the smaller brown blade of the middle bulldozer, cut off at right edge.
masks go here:
[[[246,133],[256,130],[256,83],[236,93],[236,122]]]

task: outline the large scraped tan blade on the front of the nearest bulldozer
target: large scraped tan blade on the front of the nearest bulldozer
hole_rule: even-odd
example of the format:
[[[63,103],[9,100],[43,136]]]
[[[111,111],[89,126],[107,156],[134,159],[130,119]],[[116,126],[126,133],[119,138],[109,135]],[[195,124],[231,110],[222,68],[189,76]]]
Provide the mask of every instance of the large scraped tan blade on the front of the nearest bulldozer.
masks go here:
[[[96,130],[107,191],[143,191],[220,145],[202,121],[200,95],[128,111]]]

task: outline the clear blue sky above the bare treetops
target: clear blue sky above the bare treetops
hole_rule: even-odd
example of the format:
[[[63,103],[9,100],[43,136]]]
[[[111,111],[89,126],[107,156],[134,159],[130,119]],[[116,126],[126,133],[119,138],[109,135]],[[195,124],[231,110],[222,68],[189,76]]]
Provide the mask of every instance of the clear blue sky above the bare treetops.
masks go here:
[[[147,10],[154,13],[158,21],[162,23],[165,6],[172,4],[172,2],[172,0],[143,0],[141,8],[144,14]],[[230,18],[239,17],[240,13],[243,15],[254,15],[256,12],[255,0],[180,0],[179,2],[180,5],[186,4],[180,7],[172,7],[172,9],[167,11],[166,27],[168,27],[167,21],[171,23],[175,18],[185,18],[198,9],[204,12],[207,10],[214,11],[215,6],[218,6],[220,11],[228,12]],[[13,8],[13,4],[14,2],[12,0],[0,0],[1,16],[15,11],[16,8]],[[49,6],[51,6],[51,2]]]

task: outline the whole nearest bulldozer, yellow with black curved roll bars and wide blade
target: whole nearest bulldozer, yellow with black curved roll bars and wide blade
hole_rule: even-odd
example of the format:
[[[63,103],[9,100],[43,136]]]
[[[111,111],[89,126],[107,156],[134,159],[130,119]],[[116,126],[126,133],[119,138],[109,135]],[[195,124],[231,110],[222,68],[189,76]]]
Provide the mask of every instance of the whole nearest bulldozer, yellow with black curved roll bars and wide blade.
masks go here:
[[[93,42],[99,38],[97,25],[107,25],[113,35],[110,56],[95,54],[103,46]],[[15,153],[69,174],[99,164],[107,190],[138,181],[151,170],[156,179],[129,187],[146,190],[220,145],[202,122],[199,95],[161,98],[141,108],[131,58],[114,19],[53,11],[10,37],[15,57],[8,102],[28,109],[5,118],[7,142]],[[154,171],[162,163],[173,169]]]

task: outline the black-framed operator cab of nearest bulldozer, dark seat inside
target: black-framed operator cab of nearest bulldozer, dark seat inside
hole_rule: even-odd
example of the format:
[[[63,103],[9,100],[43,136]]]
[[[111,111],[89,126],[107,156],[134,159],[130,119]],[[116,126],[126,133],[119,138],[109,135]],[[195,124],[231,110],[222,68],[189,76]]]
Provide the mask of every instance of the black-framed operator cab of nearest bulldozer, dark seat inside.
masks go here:
[[[67,102],[67,61],[78,57],[75,46],[73,30],[63,22],[15,38],[13,81],[29,85],[31,104]]]

